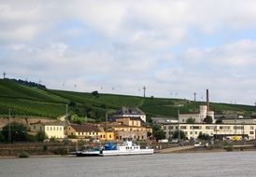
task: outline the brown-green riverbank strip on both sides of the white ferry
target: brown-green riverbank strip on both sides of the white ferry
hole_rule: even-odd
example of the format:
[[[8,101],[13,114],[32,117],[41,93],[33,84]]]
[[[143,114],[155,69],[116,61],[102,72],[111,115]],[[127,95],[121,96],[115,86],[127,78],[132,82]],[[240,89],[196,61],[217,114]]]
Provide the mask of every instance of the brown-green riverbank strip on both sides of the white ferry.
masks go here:
[[[185,146],[173,146],[162,148],[166,144],[154,144],[155,154],[177,154],[177,153],[217,153],[217,152],[239,152],[256,151],[254,142],[246,144],[235,144],[230,142],[221,142],[212,146],[195,147],[192,144]],[[174,144],[172,144],[174,145]],[[47,148],[46,148],[47,147]],[[158,147],[158,148],[156,148]],[[159,148],[161,147],[161,149]],[[24,158],[24,157],[75,157],[70,155],[76,151],[76,144],[64,143],[1,143],[0,159],[6,158]]]

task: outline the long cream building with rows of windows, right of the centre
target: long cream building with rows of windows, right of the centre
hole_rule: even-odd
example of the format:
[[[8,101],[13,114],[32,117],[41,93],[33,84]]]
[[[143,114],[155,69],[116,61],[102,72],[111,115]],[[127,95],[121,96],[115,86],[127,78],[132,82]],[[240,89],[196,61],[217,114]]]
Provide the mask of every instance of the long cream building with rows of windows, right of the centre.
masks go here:
[[[200,132],[221,139],[231,136],[247,137],[249,140],[256,139],[256,124],[179,123],[164,124],[162,129],[167,139],[171,139],[174,131],[178,129],[184,131],[189,140],[197,139]]]

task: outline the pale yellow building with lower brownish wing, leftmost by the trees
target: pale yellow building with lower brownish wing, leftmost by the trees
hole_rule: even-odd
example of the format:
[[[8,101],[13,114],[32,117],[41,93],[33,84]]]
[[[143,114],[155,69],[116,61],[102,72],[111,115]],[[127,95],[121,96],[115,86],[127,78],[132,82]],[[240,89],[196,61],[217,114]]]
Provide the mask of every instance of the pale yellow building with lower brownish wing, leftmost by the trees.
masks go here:
[[[62,139],[64,138],[64,126],[60,122],[36,122],[29,125],[31,132],[44,131],[47,137]]]

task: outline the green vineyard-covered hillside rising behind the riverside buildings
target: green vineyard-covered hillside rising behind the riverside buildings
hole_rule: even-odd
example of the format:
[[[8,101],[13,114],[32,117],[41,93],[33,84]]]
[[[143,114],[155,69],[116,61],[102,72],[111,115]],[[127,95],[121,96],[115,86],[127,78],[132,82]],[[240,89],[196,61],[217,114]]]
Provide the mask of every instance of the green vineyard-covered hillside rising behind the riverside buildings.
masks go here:
[[[65,115],[68,104],[69,115],[87,116],[97,120],[104,120],[106,110],[108,115],[114,113],[121,106],[136,106],[144,111],[148,117],[164,116],[177,117],[180,113],[199,112],[199,105],[204,102],[191,102],[178,99],[143,98],[113,94],[81,93],[64,90],[38,89],[0,79],[0,116],[7,116],[11,109],[12,116],[42,116],[57,118]],[[211,110],[217,114],[239,113],[250,116],[256,112],[254,106],[210,103]]]

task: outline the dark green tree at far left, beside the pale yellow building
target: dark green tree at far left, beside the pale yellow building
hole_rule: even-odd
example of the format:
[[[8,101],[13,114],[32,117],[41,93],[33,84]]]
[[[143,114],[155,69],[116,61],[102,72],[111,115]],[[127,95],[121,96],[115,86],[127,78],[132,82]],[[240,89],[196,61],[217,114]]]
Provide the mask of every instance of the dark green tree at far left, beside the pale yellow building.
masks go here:
[[[3,128],[2,131],[6,140],[8,140],[8,125]],[[28,134],[26,127],[18,122],[10,123],[10,135],[11,135],[11,142],[14,141],[27,141]]]

